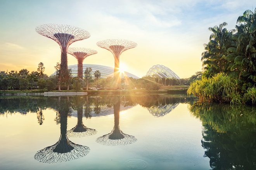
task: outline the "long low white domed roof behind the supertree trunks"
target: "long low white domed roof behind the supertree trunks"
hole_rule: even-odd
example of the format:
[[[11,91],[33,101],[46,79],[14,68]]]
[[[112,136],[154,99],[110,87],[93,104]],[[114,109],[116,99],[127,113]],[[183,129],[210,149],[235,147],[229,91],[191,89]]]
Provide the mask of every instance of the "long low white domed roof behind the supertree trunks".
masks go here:
[[[100,71],[100,78],[107,78],[108,76],[114,76],[114,68],[113,67],[109,67],[109,66],[102,66],[102,65],[91,65],[91,64],[83,64],[83,77],[84,77],[84,72],[86,70],[86,67],[91,67],[92,68],[92,77],[94,78],[94,72],[96,70],[99,70]],[[70,66],[67,66],[67,68],[71,69],[71,75],[73,77],[77,76],[77,65],[70,65]],[[56,71],[51,75],[56,75]],[[121,78],[125,78],[125,76],[127,77],[132,77],[132,78],[139,78],[138,76],[135,76],[131,73],[128,73],[128,72],[124,72],[124,73],[121,73]]]

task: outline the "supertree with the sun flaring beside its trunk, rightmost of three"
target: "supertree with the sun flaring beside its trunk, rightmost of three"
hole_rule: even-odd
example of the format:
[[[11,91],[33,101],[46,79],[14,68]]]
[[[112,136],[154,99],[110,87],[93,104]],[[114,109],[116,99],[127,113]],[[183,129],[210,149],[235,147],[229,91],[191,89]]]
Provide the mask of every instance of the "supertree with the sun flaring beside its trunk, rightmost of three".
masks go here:
[[[102,41],[98,41],[97,46],[100,48],[105,48],[110,51],[114,55],[114,81],[117,82],[119,86],[121,83],[119,76],[119,58],[120,55],[126,51],[127,49],[137,47],[137,43],[125,39],[106,39]]]

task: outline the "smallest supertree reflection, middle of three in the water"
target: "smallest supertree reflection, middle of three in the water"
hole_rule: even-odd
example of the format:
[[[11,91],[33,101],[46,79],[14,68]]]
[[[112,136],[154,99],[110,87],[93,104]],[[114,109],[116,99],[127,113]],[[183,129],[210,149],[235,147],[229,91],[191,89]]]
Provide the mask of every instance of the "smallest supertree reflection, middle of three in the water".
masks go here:
[[[82,138],[85,136],[95,135],[97,131],[95,129],[86,128],[83,125],[83,107],[77,109],[77,124],[74,128],[67,131],[67,137]]]

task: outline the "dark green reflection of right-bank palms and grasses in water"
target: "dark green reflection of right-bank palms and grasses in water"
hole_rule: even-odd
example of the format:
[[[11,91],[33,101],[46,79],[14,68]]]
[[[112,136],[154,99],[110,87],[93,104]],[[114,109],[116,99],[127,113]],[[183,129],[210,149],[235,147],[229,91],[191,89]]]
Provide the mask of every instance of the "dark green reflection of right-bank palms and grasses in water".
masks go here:
[[[190,105],[202,121],[202,147],[214,170],[256,169],[256,110],[224,104]]]

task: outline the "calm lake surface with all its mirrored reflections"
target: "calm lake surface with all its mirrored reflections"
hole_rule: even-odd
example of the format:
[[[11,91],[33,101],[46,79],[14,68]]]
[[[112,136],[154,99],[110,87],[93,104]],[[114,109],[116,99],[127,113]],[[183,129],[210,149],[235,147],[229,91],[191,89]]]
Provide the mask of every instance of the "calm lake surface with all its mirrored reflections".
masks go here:
[[[255,170],[255,109],[194,99],[2,97],[0,169]]]

